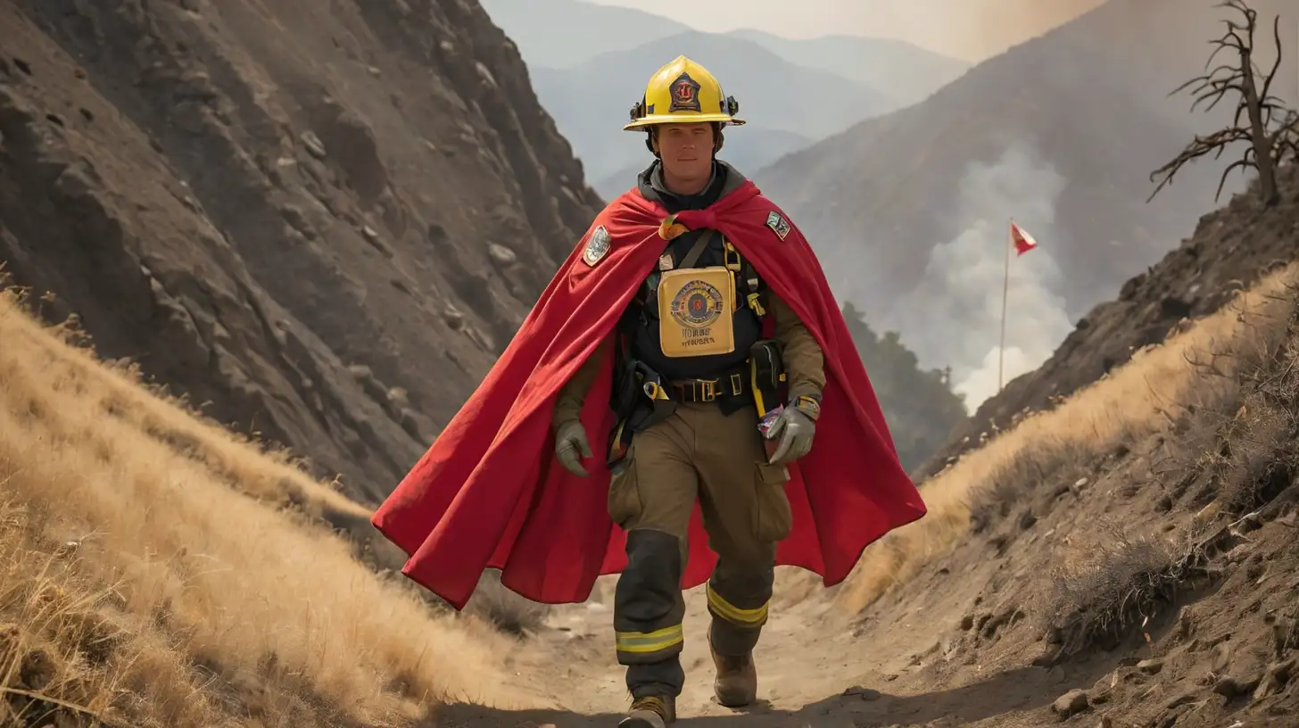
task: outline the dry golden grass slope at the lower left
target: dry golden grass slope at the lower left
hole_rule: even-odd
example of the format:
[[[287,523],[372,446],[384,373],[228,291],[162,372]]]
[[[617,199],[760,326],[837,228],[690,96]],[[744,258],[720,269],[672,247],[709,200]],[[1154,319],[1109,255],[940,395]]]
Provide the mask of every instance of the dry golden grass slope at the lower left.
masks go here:
[[[68,335],[0,294],[0,710],[410,725],[492,702],[511,641],[268,502],[362,508]]]

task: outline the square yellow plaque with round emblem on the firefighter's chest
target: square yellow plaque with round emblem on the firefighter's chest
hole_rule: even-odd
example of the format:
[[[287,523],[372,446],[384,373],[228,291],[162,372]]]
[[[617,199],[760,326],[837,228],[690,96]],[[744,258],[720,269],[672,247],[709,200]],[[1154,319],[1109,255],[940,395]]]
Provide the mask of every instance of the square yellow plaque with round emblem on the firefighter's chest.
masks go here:
[[[735,351],[735,281],[722,265],[682,268],[659,281],[659,339],[665,356]]]

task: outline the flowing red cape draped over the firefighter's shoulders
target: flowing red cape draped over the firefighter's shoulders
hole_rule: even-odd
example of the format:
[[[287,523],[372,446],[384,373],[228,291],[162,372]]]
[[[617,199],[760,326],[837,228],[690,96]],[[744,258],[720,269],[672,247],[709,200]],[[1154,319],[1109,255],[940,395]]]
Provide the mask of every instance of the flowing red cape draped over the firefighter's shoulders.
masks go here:
[[[870,542],[924,516],[925,503],[898,462],[820,263],[792,222],[783,240],[768,228],[773,211],[785,214],[746,181],[677,221],[726,235],[825,351],[821,417],[812,451],[790,465],[794,530],[777,562],[811,569],[833,586]],[[582,410],[596,455],[586,460],[588,477],[556,460],[551,415],[562,384],[613,334],[657,263],[666,214],[630,190],[596,216],[482,385],[375,511],[374,526],[410,556],[401,573],[456,610],[488,567],[529,599],[565,603],[586,601],[598,576],[626,566],[626,534],[605,510],[612,365],[600,369]],[[582,250],[599,225],[612,246],[590,266]],[[696,502],[682,588],[703,584],[716,560]]]

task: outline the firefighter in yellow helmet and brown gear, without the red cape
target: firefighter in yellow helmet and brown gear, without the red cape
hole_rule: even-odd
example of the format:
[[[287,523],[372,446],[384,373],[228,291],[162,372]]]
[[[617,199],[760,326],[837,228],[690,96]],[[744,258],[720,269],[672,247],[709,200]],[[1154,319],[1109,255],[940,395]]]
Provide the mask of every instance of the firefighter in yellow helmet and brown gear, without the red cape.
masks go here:
[[[744,124],[737,112],[734,98],[692,60],[679,56],[659,69],[624,127],[643,133],[655,157],[634,194],[675,214],[707,211],[743,186],[744,176],[716,157],[722,130]],[[778,244],[788,222],[772,214]],[[768,619],[777,543],[792,520],[787,465],[812,447],[825,386],[817,339],[740,254],[753,240],[713,229],[675,229],[665,238],[617,335],[603,344],[617,351],[590,356],[552,415],[556,458],[586,476],[582,458],[594,448],[581,413],[598,368],[616,363],[616,400],[624,391],[656,393],[614,402],[618,426],[612,442],[599,443],[613,454],[609,517],[626,532],[627,566],[613,606],[616,654],[633,699],[624,728],[675,720],[685,681],[681,582],[696,500],[717,554],[707,582],[714,692],[730,707],[756,699],[753,647]],[[603,255],[599,246],[592,252],[588,242],[585,255]],[[777,391],[783,402],[774,400]]]

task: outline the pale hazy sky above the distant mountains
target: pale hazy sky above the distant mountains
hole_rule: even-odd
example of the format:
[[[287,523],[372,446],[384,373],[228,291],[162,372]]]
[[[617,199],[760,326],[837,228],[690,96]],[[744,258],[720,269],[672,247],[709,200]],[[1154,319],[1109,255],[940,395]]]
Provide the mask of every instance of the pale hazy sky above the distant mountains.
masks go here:
[[[1103,0],[590,0],[637,8],[703,31],[755,27],[788,38],[900,38],[977,61],[1055,27]]]

